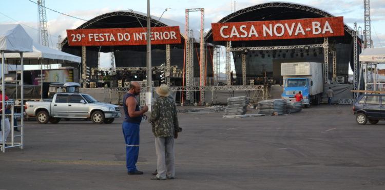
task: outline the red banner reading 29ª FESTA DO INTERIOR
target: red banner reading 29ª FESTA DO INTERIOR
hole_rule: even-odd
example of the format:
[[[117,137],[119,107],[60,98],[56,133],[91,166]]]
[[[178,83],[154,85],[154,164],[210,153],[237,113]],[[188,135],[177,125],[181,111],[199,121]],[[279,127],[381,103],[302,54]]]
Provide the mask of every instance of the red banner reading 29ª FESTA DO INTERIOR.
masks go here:
[[[180,44],[179,26],[151,28],[151,44]],[[146,45],[147,28],[67,30],[70,46]]]

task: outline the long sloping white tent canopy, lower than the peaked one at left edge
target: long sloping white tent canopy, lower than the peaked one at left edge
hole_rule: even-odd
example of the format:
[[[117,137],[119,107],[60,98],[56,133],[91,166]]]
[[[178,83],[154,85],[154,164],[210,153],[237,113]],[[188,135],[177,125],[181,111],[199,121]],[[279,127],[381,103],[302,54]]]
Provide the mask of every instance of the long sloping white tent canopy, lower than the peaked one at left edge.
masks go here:
[[[5,54],[6,63],[19,64],[19,53]],[[37,43],[33,43],[33,52],[24,53],[25,65],[57,64],[57,63],[80,63],[80,56],[72,55],[63,51],[55,50]]]

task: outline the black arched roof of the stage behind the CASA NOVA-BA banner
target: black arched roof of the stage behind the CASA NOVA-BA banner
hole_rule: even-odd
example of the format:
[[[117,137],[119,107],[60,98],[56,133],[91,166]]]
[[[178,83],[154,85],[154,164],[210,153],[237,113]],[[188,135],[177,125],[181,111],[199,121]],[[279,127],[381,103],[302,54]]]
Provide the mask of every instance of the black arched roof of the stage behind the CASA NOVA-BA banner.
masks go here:
[[[247,7],[223,17],[218,23],[252,22],[252,21],[279,21],[295,20],[301,18],[332,17],[334,15],[323,10],[287,2],[270,2]],[[344,36],[329,37],[329,42],[350,44],[352,42],[352,29],[344,25]],[[207,43],[225,45],[225,42],[214,42],[211,29],[205,36]],[[290,40],[265,40],[265,41],[233,41],[232,47],[263,47],[263,46],[286,46],[322,44],[323,37],[309,39]]]

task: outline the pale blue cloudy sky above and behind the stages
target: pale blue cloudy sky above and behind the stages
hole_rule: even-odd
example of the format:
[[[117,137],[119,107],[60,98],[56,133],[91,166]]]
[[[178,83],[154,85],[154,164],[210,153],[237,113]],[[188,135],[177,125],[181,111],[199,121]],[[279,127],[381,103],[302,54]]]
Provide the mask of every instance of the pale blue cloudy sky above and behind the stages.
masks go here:
[[[22,24],[23,28],[35,42],[40,42],[38,33],[39,15],[35,4],[37,0],[0,0],[0,24]],[[235,3],[234,3],[235,2]],[[150,1],[151,15],[161,16],[166,8],[171,8],[164,12],[163,18],[185,23],[185,9],[204,8],[205,9],[205,31],[211,28],[211,23],[218,22],[221,18],[246,7],[277,1],[265,0],[152,0]],[[298,0],[298,1],[279,1],[303,4],[321,9],[334,16],[343,16],[344,23],[349,27],[354,27],[354,22],[358,28],[364,29],[364,0]],[[385,47],[385,2],[383,0],[370,1],[371,7],[371,31],[374,47]],[[235,4],[235,6],[234,6]],[[90,20],[91,18],[118,10],[132,9],[134,11],[147,12],[147,1],[133,0],[45,0],[45,6],[57,12],[65,13],[74,17]],[[46,9],[47,25],[50,34],[49,46],[56,48],[58,36],[62,39],[67,36],[66,29],[75,29],[86,21],[69,17],[55,11]],[[200,29],[199,12],[189,14],[191,29]],[[223,58],[224,59],[224,58]],[[109,54],[102,55],[101,66],[108,67]],[[221,68],[224,68],[221,66]]]

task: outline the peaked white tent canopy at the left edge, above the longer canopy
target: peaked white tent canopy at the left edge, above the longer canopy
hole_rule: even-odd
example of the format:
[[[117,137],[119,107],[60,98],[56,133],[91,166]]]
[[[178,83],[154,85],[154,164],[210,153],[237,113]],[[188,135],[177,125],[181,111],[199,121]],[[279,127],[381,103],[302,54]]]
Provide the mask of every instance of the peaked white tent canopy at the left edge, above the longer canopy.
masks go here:
[[[32,52],[32,38],[20,24],[0,25],[0,51]]]

